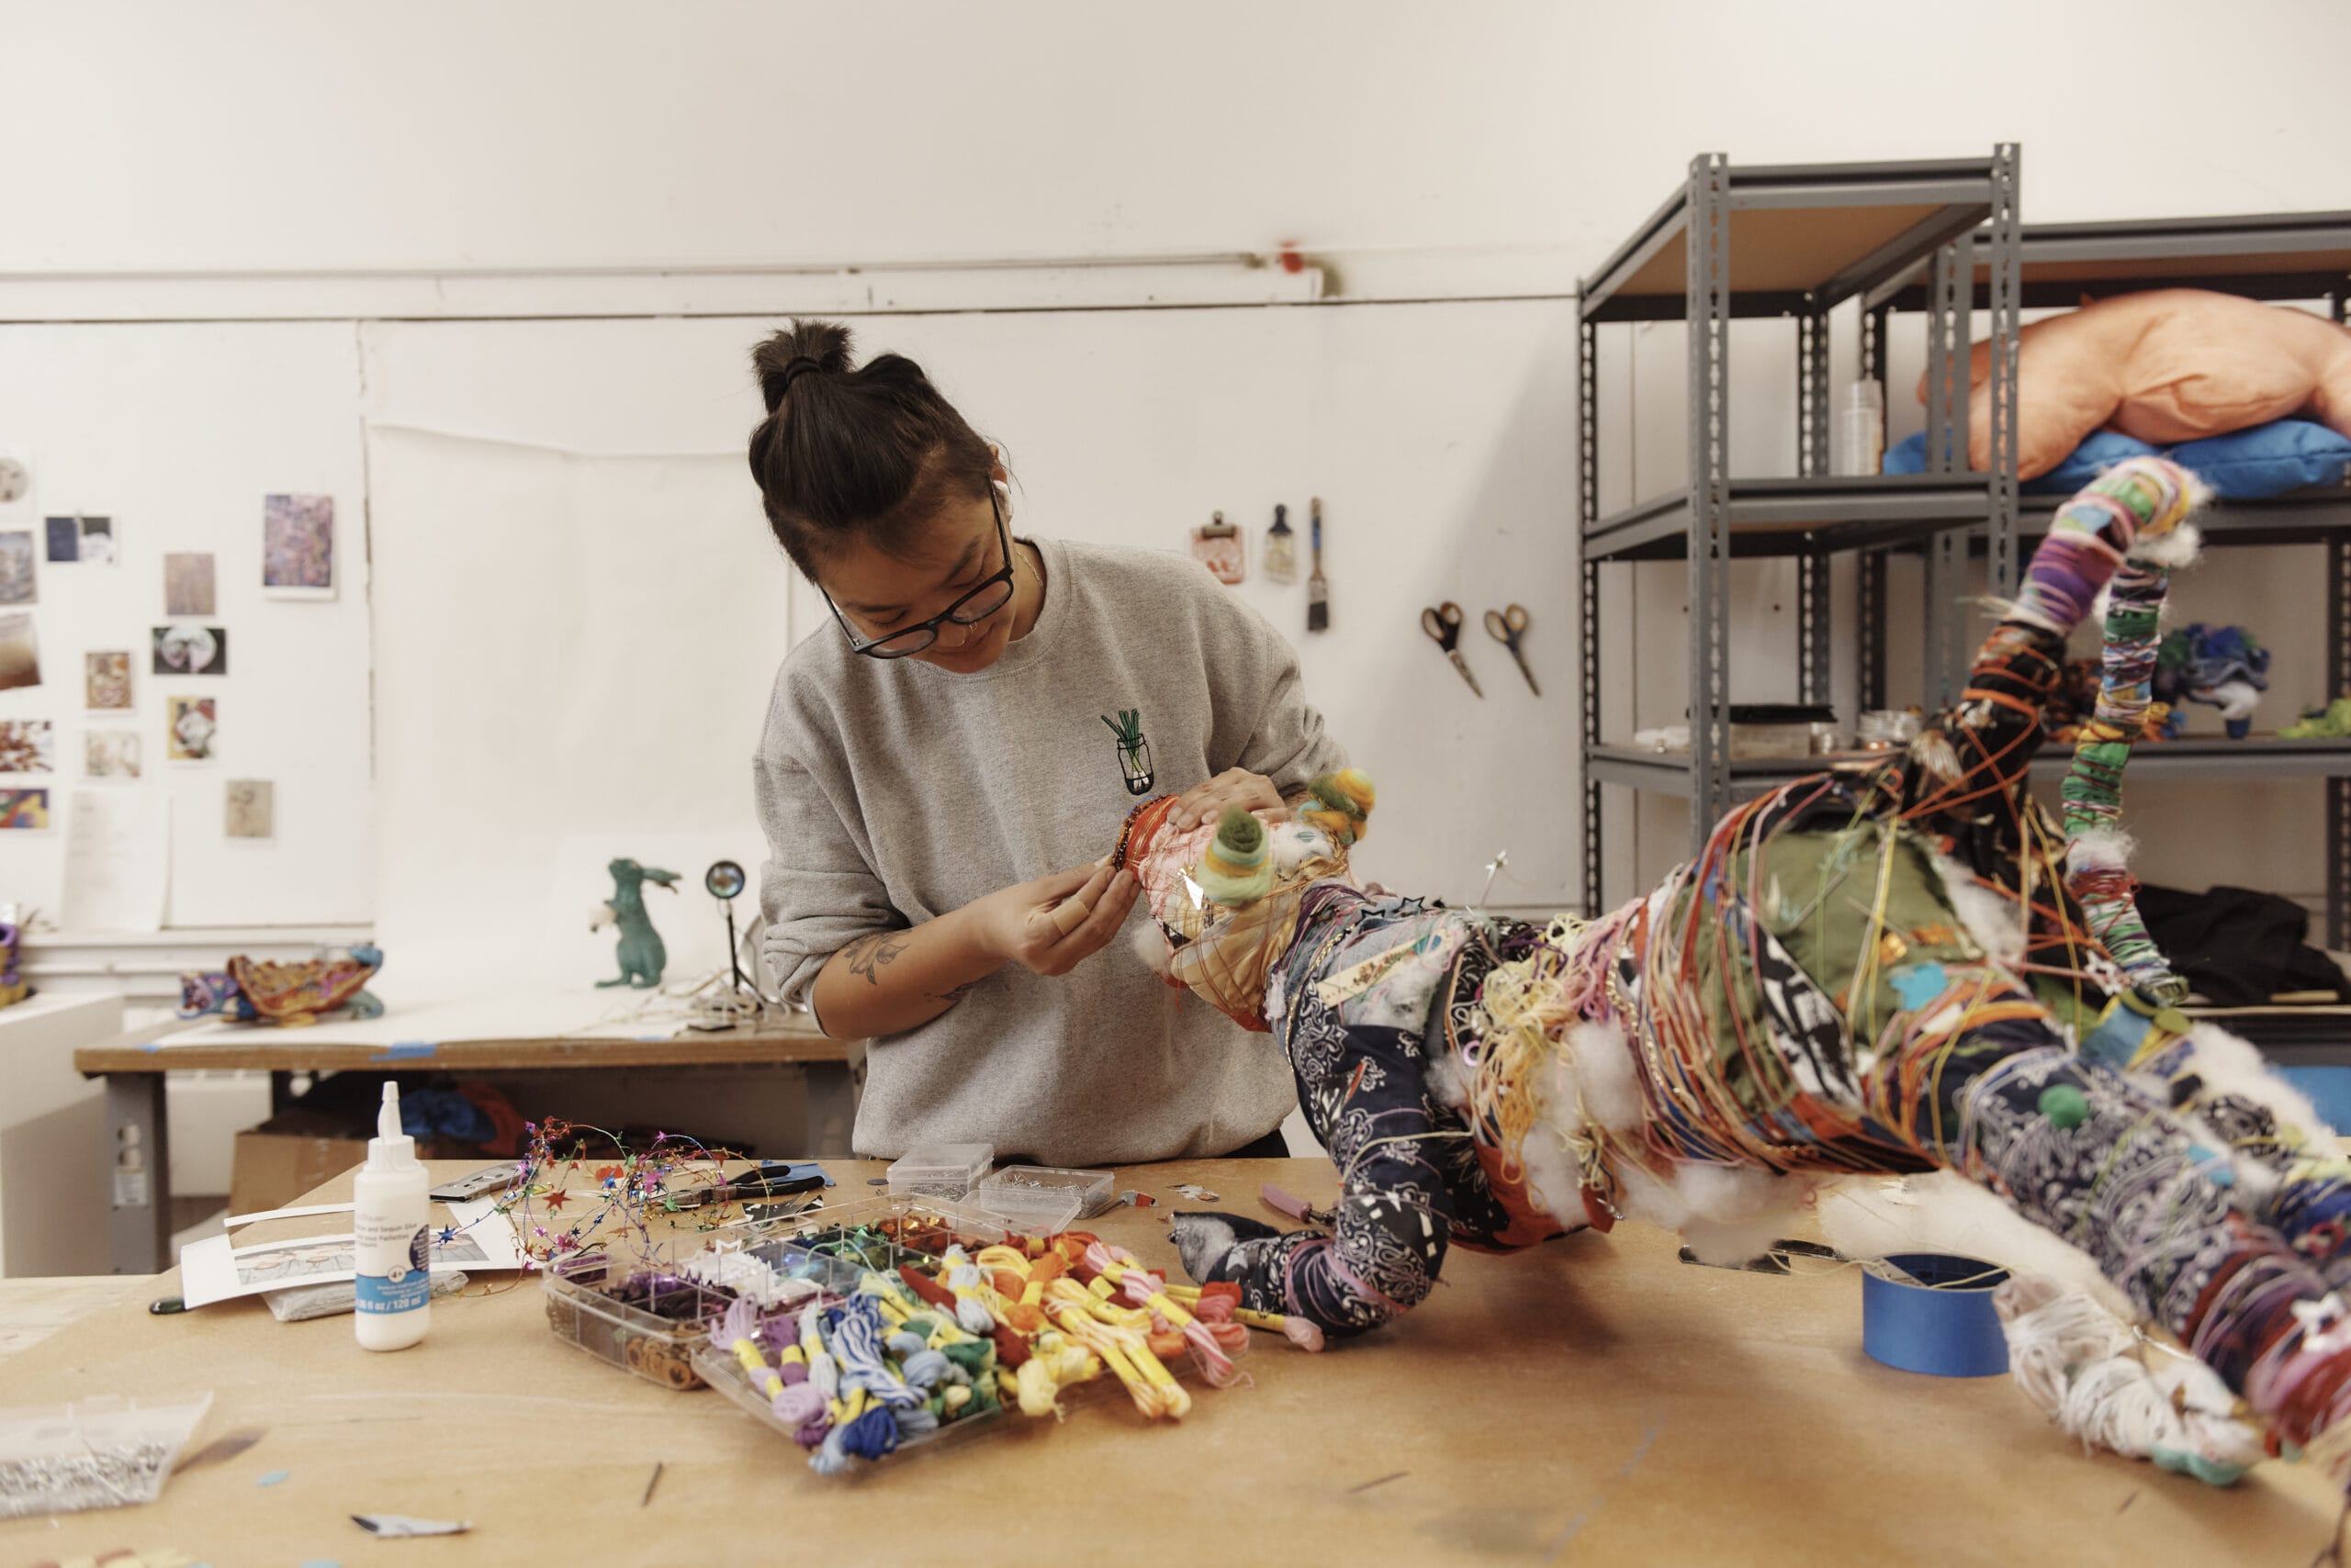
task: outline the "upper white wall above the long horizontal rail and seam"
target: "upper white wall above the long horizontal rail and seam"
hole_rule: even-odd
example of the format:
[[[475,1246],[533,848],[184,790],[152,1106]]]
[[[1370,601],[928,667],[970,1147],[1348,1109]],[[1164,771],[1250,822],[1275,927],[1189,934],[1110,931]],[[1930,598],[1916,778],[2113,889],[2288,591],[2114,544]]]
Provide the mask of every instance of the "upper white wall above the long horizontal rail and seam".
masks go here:
[[[19,2],[0,14],[0,54],[16,63],[0,94],[0,146],[31,155],[12,160],[0,320],[169,313],[183,273],[240,273],[235,308],[268,315],[315,301],[284,277],[315,270],[350,275],[343,296],[362,301],[350,315],[395,296],[397,313],[440,313],[468,289],[480,299],[484,275],[527,315],[710,310],[703,270],[783,263],[945,268],[924,299],[985,303],[980,263],[1281,242],[1326,266],[1324,292],[1340,299],[1556,294],[1702,148],[1846,160],[1980,153],[2012,139],[2024,143],[2034,221],[2351,207],[2337,40],[2330,0],[2255,0],[2224,16],[2186,0],[2128,16],[1987,0],[1958,19],[1949,7],[1697,0]],[[602,277],[611,270],[621,275]],[[393,275],[411,273],[426,275],[423,294],[395,292]],[[1025,303],[1164,299],[1164,275],[1150,268],[1107,284],[1067,270],[1041,277]],[[724,308],[903,299],[860,296],[844,277],[823,287],[738,280]],[[1763,400],[1742,400],[1735,425],[1759,470],[1789,458],[1766,414],[1787,386],[1773,357],[1784,350],[1766,339],[1770,329],[1742,329],[1735,348],[1742,393]],[[1018,334],[1006,341],[1018,353]],[[1446,369],[1441,341],[1411,371],[1389,369],[1378,329],[1335,353],[1314,395],[1375,395],[1375,371]],[[1679,465],[1679,430],[1660,414],[1676,346],[1653,334],[1608,353],[1617,390],[1641,378],[1643,409],[1639,454],[1622,421],[1608,435],[1620,458],[1610,487],[1629,487],[1636,468],[1643,487],[1662,484]],[[590,407],[571,409],[576,435],[564,440],[590,451],[658,447],[665,411],[611,397],[597,423],[600,367],[578,374]],[[1150,383],[1147,371],[1124,374]],[[1246,374],[1218,367],[1150,393],[1164,407],[1208,407]],[[19,367],[0,362],[9,378],[21,386]],[[529,397],[491,393],[510,386],[484,378],[489,407],[468,416],[501,428],[536,418]],[[355,386],[327,407],[341,416],[362,404],[386,407]],[[729,404],[717,423],[734,418]],[[1053,449],[1065,440],[1053,409],[1039,407],[1039,418],[1018,437],[1032,489],[1060,482]],[[1486,442],[1498,468],[1540,468],[1573,442],[1566,421],[1493,418],[1462,440]],[[1246,437],[1237,465],[1244,451]],[[1396,473],[1411,473],[1415,451],[1406,437]],[[1220,456],[1204,451],[1201,470]],[[1385,477],[1366,468],[1361,482]],[[2292,578],[2290,567],[2245,571],[2257,576],[2229,592],[2248,602],[2266,595],[2259,574]],[[1681,585],[1672,567],[1643,567],[1639,581],[1610,625],[1617,670],[1641,654],[1627,682],[1641,710],[1620,717],[1660,722],[1676,717],[1660,703],[1679,708]],[[1838,583],[1843,592],[1846,574]],[[1742,675],[1768,696],[1794,679],[1789,574],[1742,569],[1737,585]],[[1556,604],[1568,588],[1556,585]],[[2306,597],[2297,590],[2295,602]],[[2280,663],[2316,635],[2295,609],[2262,630]],[[1841,665],[1850,679],[1850,658]],[[1368,701],[1338,696],[1357,677],[1331,672],[1328,701]],[[2271,835],[2248,879],[2316,863],[2316,825],[2299,837],[2313,811],[2276,816],[2290,830]],[[1669,804],[1650,802],[1641,820],[1648,851],[1679,853]]]

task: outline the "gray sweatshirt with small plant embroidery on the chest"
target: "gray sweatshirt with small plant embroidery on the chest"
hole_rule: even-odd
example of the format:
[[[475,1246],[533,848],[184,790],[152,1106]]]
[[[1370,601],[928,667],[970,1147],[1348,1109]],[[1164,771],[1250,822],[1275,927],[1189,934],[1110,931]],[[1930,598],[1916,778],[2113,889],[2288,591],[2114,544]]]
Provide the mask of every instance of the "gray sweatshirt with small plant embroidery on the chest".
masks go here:
[[[1206,567],[1032,543],[1044,609],[978,675],[860,658],[832,628],[783,661],[757,802],[762,952],[788,997],[858,936],[1110,851],[1138,797],[1105,715],[1140,710],[1150,795],[1230,766],[1288,795],[1345,766],[1298,656]],[[999,1157],[1128,1164],[1225,1154],[1277,1128],[1293,1105],[1281,1051],[1154,976],[1133,940],[1147,922],[1138,898],[1126,933],[1067,976],[1006,964],[875,1041],[856,1152],[983,1140]]]

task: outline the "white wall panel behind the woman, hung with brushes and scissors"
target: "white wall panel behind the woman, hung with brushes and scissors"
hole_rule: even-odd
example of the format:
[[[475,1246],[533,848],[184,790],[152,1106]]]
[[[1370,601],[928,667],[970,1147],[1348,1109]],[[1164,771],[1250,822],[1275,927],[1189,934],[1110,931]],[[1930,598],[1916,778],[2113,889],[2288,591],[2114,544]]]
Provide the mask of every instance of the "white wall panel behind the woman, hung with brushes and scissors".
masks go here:
[[[769,322],[388,322],[367,329],[379,524],[383,905],[402,980],[491,985],[609,957],[576,914],[628,835],[712,835],[755,865],[750,757],[792,635],[835,635],[790,595],[741,442]],[[999,440],[1023,531],[1183,548],[1223,508],[1251,531],[1237,588],[1300,651],[1305,686],[1380,780],[1394,832],[1361,867],[1467,900],[1575,898],[1573,313],[1554,301],[1357,310],[1112,310],[863,317]],[[426,435],[440,430],[454,435]],[[1277,501],[1326,503],[1333,618],[1258,574]],[[1418,630],[1458,599],[1474,698]],[[1526,691],[1476,618],[1526,602]],[[1166,780],[1176,785],[1178,780]],[[588,837],[607,835],[590,851]],[[1103,846],[1072,844],[1079,863]],[[698,879],[701,863],[675,865]],[[583,879],[585,877],[585,879]],[[705,922],[701,896],[663,931]],[[569,973],[592,978],[592,973]]]

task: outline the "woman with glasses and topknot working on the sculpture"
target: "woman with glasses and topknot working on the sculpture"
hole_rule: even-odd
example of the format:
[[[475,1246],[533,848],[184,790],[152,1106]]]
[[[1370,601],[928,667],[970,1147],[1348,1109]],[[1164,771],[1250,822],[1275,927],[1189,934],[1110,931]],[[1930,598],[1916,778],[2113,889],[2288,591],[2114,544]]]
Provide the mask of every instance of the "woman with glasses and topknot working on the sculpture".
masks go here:
[[[766,520],[837,621],[769,701],[762,952],[875,1039],[858,1154],[1284,1154],[1279,1053],[1112,943],[1136,882],[1091,856],[1133,795],[1204,820],[1345,766],[1295,654],[1190,559],[1013,538],[1004,463],[912,360],[795,322],[752,364]]]

